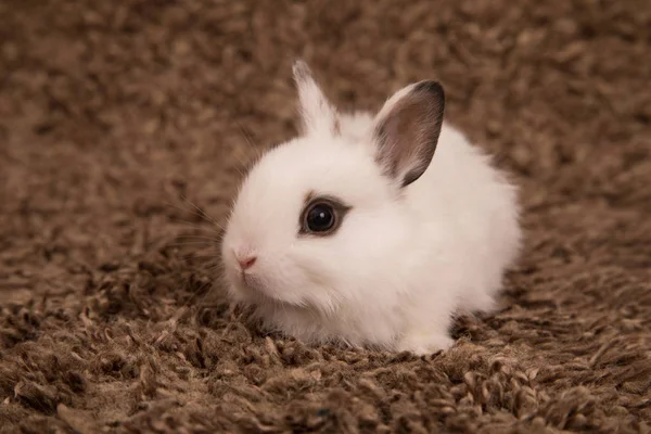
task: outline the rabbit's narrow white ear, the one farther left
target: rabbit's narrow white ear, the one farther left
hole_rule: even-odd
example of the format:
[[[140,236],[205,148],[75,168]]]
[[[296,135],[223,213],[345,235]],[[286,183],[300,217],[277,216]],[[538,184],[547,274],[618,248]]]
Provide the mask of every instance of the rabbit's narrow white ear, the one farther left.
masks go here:
[[[298,60],[294,62],[292,69],[298,90],[303,132],[306,135],[339,133],[337,111],[315,81],[307,63]]]

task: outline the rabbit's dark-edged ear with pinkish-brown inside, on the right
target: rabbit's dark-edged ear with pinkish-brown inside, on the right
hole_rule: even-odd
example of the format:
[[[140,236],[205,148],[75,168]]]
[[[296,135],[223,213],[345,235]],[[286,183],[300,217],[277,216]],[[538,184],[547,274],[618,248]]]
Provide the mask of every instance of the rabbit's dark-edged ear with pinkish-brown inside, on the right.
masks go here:
[[[409,186],[432,162],[443,125],[445,92],[436,81],[407,86],[390,98],[373,130],[375,158],[383,173]]]

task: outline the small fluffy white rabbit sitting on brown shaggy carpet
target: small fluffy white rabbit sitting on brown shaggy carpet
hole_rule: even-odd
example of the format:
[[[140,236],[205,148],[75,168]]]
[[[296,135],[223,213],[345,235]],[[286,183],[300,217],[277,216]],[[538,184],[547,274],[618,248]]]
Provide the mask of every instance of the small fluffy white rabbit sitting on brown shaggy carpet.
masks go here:
[[[228,293],[308,344],[446,349],[457,312],[494,307],[520,251],[518,192],[443,123],[435,81],[344,115],[293,68],[302,133],[240,188],[221,258]]]

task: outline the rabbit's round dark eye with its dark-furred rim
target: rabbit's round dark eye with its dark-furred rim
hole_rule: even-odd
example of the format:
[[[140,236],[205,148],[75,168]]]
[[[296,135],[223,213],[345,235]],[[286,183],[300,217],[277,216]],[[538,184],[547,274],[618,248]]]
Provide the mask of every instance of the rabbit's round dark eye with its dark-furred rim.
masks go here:
[[[302,234],[326,237],[334,233],[349,207],[333,197],[315,197],[309,194],[301,215]]]

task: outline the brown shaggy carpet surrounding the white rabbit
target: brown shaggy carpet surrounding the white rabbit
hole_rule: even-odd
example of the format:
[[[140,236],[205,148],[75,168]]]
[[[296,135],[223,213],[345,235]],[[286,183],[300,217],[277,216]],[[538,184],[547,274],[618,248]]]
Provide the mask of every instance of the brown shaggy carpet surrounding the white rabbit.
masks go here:
[[[448,353],[265,336],[210,288],[190,203],[224,221],[294,133],[296,56],[342,106],[439,79],[521,183]],[[0,432],[649,433],[650,81],[648,0],[1,1]]]

